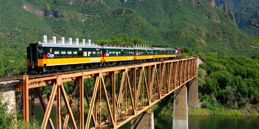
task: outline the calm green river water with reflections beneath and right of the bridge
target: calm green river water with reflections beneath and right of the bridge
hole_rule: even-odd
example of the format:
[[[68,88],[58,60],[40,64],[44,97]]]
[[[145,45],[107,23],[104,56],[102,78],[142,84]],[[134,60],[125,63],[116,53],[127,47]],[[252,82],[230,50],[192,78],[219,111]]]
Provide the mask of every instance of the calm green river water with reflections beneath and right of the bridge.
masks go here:
[[[30,106],[31,107],[31,106]],[[52,107],[50,118],[56,127],[56,105]],[[75,111],[75,109],[72,109]],[[29,114],[31,116],[31,112]],[[44,113],[40,103],[35,103],[35,118],[41,123]],[[85,113],[85,122],[87,114]],[[76,118],[75,118],[76,119]],[[63,120],[62,120],[63,121]],[[154,114],[155,129],[172,129],[173,118],[171,116],[156,116]],[[47,127],[49,128],[49,126]],[[131,128],[131,121],[120,129]],[[188,128],[190,129],[258,129],[259,116],[188,116]]]

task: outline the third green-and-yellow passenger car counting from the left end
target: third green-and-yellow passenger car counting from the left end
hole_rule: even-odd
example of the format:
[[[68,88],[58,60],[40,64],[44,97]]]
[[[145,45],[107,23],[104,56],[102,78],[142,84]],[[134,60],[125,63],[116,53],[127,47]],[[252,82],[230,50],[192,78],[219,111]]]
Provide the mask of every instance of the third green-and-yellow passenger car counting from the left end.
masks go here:
[[[153,52],[154,49],[148,47],[148,46],[142,46],[140,44],[134,45],[134,61],[135,62],[150,62],[153,61],[154,56],[153,56]]]

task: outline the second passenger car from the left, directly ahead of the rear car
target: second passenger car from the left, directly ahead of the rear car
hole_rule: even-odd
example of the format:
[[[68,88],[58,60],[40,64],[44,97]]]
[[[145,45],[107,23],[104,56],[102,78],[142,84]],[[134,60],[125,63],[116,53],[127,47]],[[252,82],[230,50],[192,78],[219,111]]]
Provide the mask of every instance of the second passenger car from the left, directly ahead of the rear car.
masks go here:
[[[134,48],[125,44],[102,44],[104,65],[130,64],[134,62]]]

